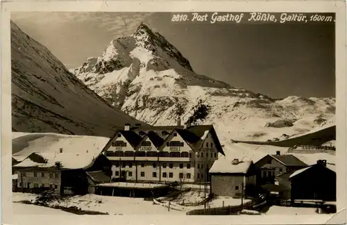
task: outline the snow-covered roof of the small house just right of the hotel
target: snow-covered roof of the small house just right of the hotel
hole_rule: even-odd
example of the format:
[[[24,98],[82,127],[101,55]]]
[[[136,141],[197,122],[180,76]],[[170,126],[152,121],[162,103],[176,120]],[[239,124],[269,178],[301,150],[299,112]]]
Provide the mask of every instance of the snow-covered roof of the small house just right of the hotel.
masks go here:
[[[246,174],[252,161],[239,161],[238,164],[232,164],[232,160],[221,156],[214,161],[209,173],[211,174]]]

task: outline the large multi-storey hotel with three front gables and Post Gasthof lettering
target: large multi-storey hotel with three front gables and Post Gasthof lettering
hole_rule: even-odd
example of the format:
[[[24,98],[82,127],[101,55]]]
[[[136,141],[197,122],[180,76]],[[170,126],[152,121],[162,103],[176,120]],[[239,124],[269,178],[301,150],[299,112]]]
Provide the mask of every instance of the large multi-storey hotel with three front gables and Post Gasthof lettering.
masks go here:
[[[212,125],[130,127],[115,132],[103,149],[112,178],[134,182],[198,183],[224,154]]]

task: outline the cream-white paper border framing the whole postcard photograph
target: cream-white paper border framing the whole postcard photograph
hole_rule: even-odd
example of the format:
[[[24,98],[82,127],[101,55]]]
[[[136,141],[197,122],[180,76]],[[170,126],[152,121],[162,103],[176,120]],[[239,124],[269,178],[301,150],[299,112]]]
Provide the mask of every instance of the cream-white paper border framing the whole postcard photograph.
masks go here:
[[[337,208],[346,209],[346,3],[343,1],[6,1],[1,2],[1,200],[2,224],[334,224],[346,210],[329,215],[276,216],[67,216],[12,215],[10,12],[336,12]],[[338,216],[338,217],[337,217]]]

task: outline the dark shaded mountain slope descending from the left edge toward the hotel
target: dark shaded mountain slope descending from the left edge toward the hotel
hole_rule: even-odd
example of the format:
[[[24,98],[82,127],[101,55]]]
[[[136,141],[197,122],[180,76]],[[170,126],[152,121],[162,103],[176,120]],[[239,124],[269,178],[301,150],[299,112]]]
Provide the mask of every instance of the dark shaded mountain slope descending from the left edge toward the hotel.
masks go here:
[[[12,131],[109,137],[137,123],[108,105],[11,22]]]

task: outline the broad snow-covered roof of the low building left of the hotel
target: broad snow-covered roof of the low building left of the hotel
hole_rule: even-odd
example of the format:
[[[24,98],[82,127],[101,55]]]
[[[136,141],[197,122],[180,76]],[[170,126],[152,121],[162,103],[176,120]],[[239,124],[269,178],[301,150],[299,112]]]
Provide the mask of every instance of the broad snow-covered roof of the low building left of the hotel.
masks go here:
[[[100,153],[101,151],[99,153],[31,153],[28,158],[14,167],[51,168],[56,167],[56,163],[60,162],[61,169],[82,169],[92,165]]]

